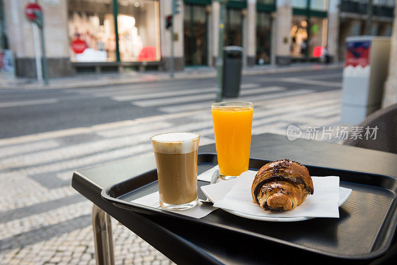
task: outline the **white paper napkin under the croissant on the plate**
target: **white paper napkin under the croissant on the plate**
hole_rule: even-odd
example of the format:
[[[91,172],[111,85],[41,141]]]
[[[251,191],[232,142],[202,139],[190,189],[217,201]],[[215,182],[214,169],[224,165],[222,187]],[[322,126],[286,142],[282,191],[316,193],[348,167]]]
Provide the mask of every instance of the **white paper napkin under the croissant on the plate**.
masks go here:
[[[266,217],[339,217],[339,177],[312,177],[314,194],[292,210],[269,211],[253,202],[251,186],[256,172],[246,171],[226,196],[214,203],[215,207]]]

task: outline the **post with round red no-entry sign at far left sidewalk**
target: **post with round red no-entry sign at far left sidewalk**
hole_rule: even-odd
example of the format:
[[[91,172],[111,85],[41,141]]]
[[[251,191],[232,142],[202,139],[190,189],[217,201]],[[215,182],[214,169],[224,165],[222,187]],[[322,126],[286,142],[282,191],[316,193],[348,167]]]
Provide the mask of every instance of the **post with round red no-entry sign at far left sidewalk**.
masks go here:
[[[25,7],[26,17],[36,23],[37,27],[40,29],[40,37],[41,37],[41,53],[42,53],[42,66],[43,66],[43,78],[44,84],[48,85],[48,67],[47,67],[47,58],[46,58],[46,49],[44,43],[44,31],[43,31],[43,9],[37,3],[28,3]],[[39,69],[37,69],[39,71]]]

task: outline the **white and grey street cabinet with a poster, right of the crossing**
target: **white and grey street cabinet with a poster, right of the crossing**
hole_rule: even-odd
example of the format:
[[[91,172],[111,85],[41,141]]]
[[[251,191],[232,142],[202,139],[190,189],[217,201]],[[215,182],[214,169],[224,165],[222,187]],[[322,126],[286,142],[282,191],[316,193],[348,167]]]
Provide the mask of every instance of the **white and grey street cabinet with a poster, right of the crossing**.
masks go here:
[[[346,38],[342,80],[342,123],[359,124],[381,107],[389,52],[389,37]]]

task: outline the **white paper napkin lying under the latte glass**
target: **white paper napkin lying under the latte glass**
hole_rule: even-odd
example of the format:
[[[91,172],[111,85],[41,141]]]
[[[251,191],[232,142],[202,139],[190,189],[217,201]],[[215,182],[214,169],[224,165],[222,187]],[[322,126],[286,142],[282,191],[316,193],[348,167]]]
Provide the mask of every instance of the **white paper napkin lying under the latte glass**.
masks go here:
[[[139,199],[132,200],[132,202],[142,204],[145,206],[149,206],[149,207],[153,207],[153,208],[163,209],[160,206],[160,202],[159,202],[158,198],[159,198],[159,194],[158,194],[158,192],[155,192],[155,193],[146,195],[144,197],[141,197]],[[202,218],[202,217],[208,215],[211,211],[216,210],[216,209],[217,209],[216,207],[213,207],[210,204],[209,205],[204,204],[199,201],[199,203],[195,207],[188,209],[188,210],[168,210],[168,211],[195,217],[195,218]]]

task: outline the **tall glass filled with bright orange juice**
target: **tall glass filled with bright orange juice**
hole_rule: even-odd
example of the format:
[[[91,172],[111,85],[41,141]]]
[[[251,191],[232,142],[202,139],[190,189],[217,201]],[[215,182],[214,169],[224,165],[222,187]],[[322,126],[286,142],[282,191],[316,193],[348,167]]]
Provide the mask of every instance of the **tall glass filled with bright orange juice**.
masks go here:
[[[211,105],[219,175],[232,179],[248,170],[250,161],[251,102],[218,102]]]

